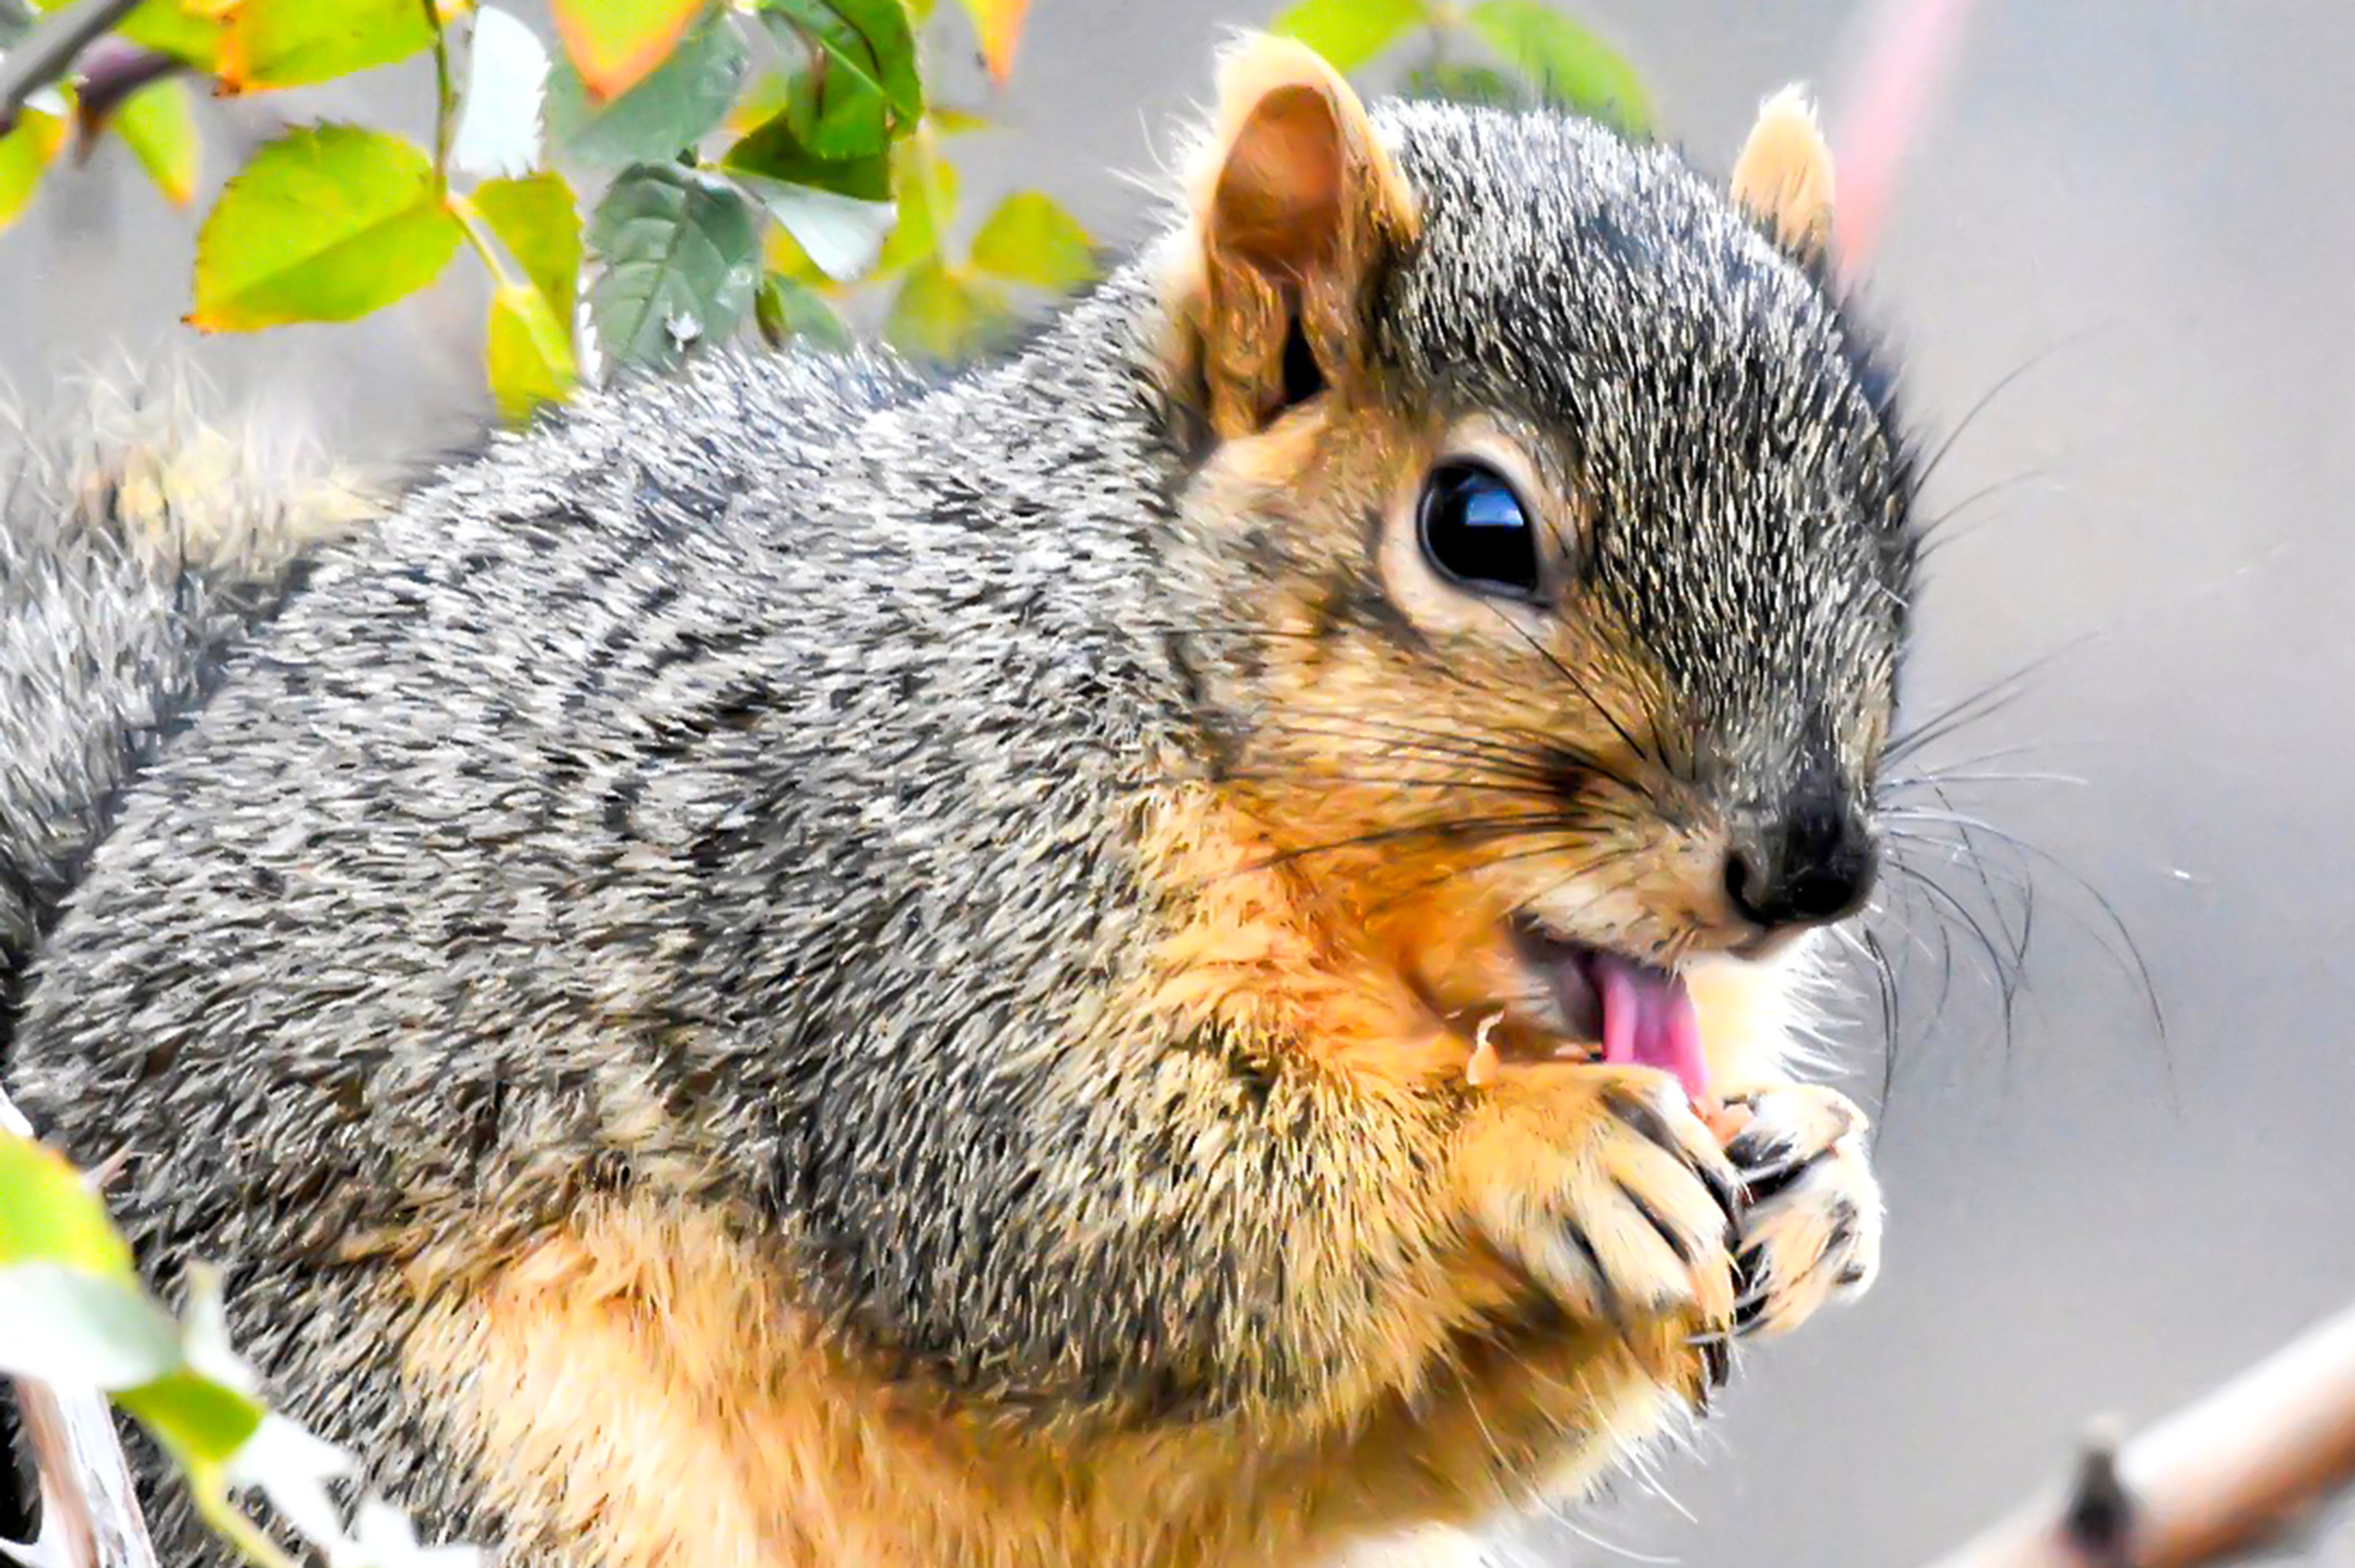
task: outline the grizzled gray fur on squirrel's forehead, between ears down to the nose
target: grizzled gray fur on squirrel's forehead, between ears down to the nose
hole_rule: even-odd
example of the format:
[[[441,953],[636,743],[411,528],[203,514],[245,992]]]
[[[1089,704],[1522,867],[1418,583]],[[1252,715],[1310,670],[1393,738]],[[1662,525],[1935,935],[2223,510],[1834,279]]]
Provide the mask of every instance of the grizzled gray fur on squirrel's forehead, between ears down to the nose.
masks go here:
[[[1587,582],[1724,775],[1705,789],[1776,808],[1820,765],[1865,793],[1839,718],[1896,680],[1912,497],[1853,325],[1665,148],[1429,111],[1401,160],[1429,233],[1385,346],[1564,433]]]

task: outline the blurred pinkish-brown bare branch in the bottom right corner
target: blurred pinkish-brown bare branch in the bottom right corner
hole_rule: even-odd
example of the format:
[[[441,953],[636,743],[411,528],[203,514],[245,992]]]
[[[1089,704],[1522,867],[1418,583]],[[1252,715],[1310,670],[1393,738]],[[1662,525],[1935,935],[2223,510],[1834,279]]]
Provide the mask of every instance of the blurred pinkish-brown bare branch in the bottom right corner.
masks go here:
[[[2216,1568],[2355,1488],[2355,1309],[2329,1318],[1936,1568]]]

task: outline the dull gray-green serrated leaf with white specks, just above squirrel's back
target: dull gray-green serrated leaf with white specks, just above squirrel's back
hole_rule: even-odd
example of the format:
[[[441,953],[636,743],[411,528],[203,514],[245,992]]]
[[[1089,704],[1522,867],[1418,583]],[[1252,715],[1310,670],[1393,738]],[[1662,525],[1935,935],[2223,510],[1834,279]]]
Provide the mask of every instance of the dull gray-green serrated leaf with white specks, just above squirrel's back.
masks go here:
[[[617,365],[671,365],[690,344],[728,337],[761,280],[744,198],[676,165],[638,165],[612,181],[589,245],[603,261],[589,318]]]

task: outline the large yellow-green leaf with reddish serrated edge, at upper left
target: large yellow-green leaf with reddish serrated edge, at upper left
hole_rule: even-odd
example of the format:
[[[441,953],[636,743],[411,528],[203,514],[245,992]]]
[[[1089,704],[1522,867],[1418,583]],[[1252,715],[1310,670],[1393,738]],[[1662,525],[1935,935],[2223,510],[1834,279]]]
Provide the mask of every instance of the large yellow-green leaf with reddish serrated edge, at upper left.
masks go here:
[[[353,320],[433,283],[459,238],[417,146],[351,125],[294,129],[205,217],[188,325]]]

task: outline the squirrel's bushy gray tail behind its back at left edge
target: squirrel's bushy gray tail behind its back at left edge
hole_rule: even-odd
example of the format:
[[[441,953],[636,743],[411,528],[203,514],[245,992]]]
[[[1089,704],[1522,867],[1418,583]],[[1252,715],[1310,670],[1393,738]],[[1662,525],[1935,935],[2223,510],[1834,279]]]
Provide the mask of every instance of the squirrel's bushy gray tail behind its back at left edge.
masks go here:
[[[0,1064],[24,965],[122,784],[205,702],[301,558],[393,485],[188,374],[0,407]]]

